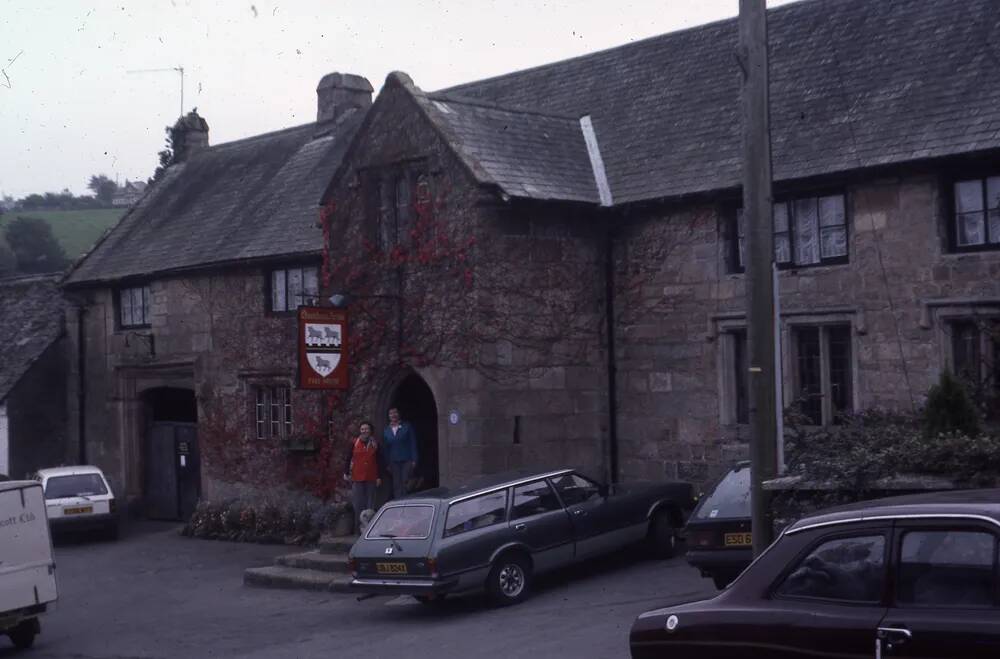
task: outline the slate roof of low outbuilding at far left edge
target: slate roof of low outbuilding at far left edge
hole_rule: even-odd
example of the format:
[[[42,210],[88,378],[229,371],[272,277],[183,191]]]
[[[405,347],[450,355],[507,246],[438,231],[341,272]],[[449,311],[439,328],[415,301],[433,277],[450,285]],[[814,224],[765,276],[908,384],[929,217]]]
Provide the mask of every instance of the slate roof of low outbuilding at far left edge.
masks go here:
[[[63,334],[60,275],[0,279],[0,401]]]

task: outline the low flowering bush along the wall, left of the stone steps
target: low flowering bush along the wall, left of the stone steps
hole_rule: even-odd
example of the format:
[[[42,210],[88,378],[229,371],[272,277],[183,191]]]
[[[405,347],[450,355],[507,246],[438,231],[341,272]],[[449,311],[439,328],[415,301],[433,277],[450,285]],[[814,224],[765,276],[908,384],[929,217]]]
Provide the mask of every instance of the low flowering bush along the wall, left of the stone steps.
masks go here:
[[[350,514],[345,504],[201,501],[181,533],[210,540],[308,545]]]

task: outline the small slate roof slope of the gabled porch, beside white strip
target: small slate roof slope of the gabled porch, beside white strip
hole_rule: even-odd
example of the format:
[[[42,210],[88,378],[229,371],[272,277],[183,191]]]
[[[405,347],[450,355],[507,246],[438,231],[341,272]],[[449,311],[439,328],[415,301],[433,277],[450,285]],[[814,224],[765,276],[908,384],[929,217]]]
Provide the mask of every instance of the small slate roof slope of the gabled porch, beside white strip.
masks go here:
[[[600,202],[579,118],[416,92],[479,181],[513,197]]]

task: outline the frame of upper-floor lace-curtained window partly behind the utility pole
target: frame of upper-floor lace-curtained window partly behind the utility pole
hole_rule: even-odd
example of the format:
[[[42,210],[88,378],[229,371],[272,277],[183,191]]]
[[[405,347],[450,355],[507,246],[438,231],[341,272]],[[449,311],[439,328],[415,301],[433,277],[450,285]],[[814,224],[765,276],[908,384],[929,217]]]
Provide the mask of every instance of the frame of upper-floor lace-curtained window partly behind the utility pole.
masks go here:
[[[844,244],[846,252],[840,256],[823,256],[823,246],[822,246],[822,236],[823,236],[823,225],[819,217],[819,201],[820,199],[828,197],[839,196],[843,200],[844,204]],[[795,245],[796,245],[796,229],[795,229],[795,213],[793,212],[793,207],[796,202],[809,201],[815,202],[817,209],[816,218],[816,241],[817,250],[819,250],[819,261],[816,263],[796,263],[795,261]],[[790,260],[788,261],[778,261],[774,259],[774,263],[778,266],[779,270],[800,270],[803,268],[817,268],[821,266],[829,265],[843,265],[850,263],[851,261],[851,224],[852,224],[852,213],[851,213],[851,197],[845,188],[831,188],[812,191],[797,195],[783,195],[776,197],[772,203],[771,211],[771,231],[772,236],[777,237],[780,234],[785,234],[788,236],[788,253]],[[787,208],[788,217],[788,228],[782,232],[774,231],[774,210],[773,208],[778,205],[785,205]],[[740,231],[739,231],[739,215],[742,212],[742,205],[737,203],[733,206],[732,210],[727,213],[727,224],[728,230],[726,232],[728,240],[726,245],[726,260],[728,261],[727,271],[729,274],[740,274],[746,272],[746,265],[741,263],[740,258]],[[836,225],[835,225],[836,226]],[[826,227],[829,228],[829,227]]]

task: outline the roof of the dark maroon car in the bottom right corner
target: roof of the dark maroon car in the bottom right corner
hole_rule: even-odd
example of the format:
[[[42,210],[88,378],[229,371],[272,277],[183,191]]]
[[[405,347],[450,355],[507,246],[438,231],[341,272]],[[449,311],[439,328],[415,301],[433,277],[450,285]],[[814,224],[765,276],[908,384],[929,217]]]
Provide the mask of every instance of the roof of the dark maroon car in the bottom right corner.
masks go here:
[[[977,517],[1000,526],[1000,489],[908,494],[828,508],[795,522],[785,533],[872,519]]]

